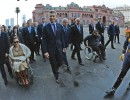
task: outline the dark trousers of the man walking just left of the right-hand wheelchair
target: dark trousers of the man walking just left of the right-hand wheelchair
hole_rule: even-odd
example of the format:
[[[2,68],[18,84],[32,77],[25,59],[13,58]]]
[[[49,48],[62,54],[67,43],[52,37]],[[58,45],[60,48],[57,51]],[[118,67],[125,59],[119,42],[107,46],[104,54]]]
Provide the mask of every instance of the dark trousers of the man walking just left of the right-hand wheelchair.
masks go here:
[[[71,57],[74,58],[75,53],[77,53],[78,61],[79,61],[79,63],[81,63],[82,60],[81,60],[81,56],[80,56],[80,43],[75,43],[73,45],[74,45],[74,50],[72,52]]]

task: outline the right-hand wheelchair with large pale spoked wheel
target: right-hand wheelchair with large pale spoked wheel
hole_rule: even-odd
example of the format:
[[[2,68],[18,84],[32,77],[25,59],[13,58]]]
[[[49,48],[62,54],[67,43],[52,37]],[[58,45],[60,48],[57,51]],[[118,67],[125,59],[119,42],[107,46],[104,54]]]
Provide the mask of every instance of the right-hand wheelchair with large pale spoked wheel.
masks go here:
[[[93,62],[96,62],[96,59],[100,58],[100,56],[96,53],[96,51],[93,51],[92,47],[88,45],[84,49],[84,54],[87,60],[93,60]]]

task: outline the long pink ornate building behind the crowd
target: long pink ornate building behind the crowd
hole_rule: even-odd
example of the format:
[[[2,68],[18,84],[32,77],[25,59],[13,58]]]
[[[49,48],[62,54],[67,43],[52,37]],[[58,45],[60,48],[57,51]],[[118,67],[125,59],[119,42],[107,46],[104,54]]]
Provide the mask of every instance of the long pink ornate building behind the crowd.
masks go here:
[[[96,23],[99,17],[102,18],[104,24],[108,24],[111,20],[119,22],[120,25],[124,25],[124,16],[120,12],[115,12],[112,9],[102,6],[84,6],[79,7],[78,4],[74,2],[68,4],[66,7],[52,7],[47,4],[46,6],[42,4],[36,4],[35,10],[32,12],[33,21],[40,22],[41,18],[44,17],[46,21],[49,21],[48,12],[50,10],[55,10],[57,12],[57,21],[61,23],[62,18],[68,18],[69,23],[76,18],[80,17],[83,25],[88,25],[91,21]]]

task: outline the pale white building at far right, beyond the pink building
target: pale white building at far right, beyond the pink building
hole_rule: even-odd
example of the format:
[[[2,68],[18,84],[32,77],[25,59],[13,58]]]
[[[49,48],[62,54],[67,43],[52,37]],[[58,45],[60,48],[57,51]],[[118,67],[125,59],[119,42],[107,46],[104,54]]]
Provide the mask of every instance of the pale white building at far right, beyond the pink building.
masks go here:
[[[116,7],[114,11],[119,11],[124,15],[125,22],[130,21],[130,6],[124,5],[122,7]]]

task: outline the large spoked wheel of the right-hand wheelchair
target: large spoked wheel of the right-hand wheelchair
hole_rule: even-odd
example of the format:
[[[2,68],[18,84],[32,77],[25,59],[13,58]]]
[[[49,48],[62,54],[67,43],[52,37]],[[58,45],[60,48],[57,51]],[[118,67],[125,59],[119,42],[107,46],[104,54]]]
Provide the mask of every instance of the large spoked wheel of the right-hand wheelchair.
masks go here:
[[[93,50],[90,46],[84,49],[85,58],[91,60],[93,58]]]

